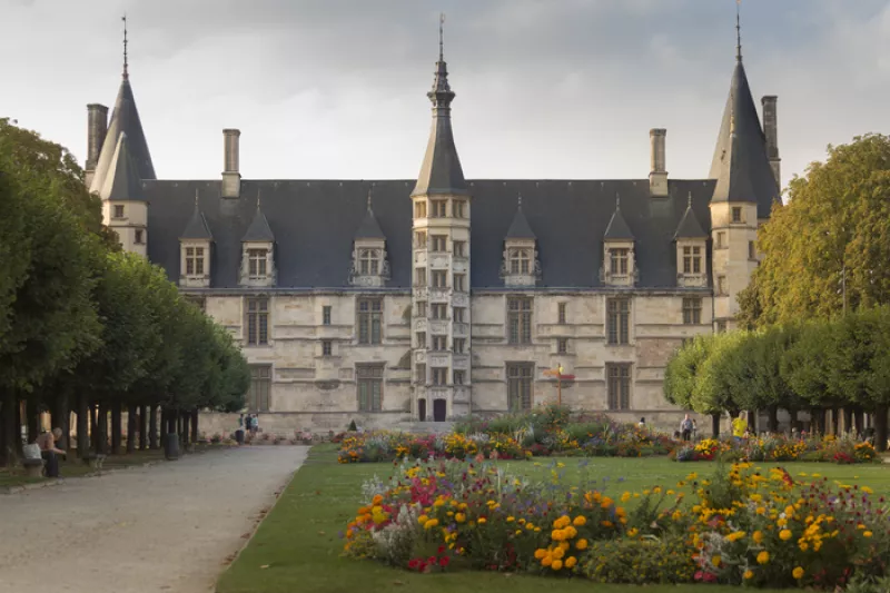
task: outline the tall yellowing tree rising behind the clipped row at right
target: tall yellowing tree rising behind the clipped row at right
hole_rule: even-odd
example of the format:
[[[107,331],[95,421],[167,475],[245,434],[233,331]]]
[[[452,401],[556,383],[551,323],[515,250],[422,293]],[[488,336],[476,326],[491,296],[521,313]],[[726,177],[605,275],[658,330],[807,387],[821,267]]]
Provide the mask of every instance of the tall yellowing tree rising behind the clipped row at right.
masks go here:
[[[763,259],[739,296],[742,325],[838,316],[890,303],[890,138],[828,148],[789,184],[758,240]]]

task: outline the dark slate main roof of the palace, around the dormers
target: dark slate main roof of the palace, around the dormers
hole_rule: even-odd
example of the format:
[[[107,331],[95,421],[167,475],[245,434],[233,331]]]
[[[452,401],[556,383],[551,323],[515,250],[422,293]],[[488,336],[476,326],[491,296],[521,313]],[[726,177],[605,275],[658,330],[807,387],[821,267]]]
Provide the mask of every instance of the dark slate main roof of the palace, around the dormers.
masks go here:
[[[374,214],[387,239],[392,278],[386,287],[408,290],[412,278],[414,180],[374,181]],[[255,218],[256,202],[221,198],[220,181],[145,181],[148,256],[171,280],[179,278],[179,233],[194,215],[194,196],[214,229],[211,288],[237,288],[241,238]],[[367,214],[370,181],[243,180],[241,196],[263,194],[263,211],[277,237],[277,286],[348,288],[355,229]],[[692,210],[710,228],[708,208],[713,180],[669,180],[670,196],[650,196],[649,180],[478,180],[467,181],[473,196],[471,288],[502,288],[500,277],[516,196],[535,229],[543,271],[538,288],[603,287],[599,271],[603,237],[616,192],[622,217],[635,233],[639,288],[676,288],[674,233],[692,194]],[[263,217],[266,218],[265,216]]]

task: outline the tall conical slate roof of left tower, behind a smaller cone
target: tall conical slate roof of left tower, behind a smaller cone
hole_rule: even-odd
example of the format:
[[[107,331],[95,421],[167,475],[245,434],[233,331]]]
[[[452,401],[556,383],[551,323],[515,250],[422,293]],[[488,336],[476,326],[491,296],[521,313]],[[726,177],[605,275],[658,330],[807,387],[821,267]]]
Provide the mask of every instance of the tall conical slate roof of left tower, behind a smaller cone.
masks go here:
[[[139,120],[139,110],[136,108],[136,99],[132,96],[132,87],[126,76],[120,82],[118,98],[115,100],[115,110],[111,112],[111,120],[108,123],[108,132],[102,142],[102,150],[99,152],[99,161],[96,166],[90,191],[98,192],[101,190],[105,178],[111,169],[111,159],[121,134],[126,134],[129,138],[130,156],[136,162],[139,177],[141,179],[157,179],[155,166],[151,164],[151,154],[148,151],[146,135],[142,131],[142,122]]]

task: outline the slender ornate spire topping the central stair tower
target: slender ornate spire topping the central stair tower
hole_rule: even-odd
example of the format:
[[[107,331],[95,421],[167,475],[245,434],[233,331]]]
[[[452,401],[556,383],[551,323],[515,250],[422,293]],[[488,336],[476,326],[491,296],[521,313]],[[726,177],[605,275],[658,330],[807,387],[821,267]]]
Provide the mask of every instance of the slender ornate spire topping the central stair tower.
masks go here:
[[[442,14],[439,17],[439,57],[436,62],[433,88],[426,93],[433,103],[433,127],[429,131],[426,155],[421,165],[421,174],[417,176],[417,185],[414,187],[412,196],[468,194],[452,132],[451,105],[455,93],[448,85],[448,69],[445,63],[444,22],[445,16]]]

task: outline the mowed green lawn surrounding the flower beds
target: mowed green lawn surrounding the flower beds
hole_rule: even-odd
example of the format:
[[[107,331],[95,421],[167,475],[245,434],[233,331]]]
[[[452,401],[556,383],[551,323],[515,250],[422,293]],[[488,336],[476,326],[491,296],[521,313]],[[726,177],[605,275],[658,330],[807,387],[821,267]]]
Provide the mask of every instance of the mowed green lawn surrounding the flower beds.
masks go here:
[[[558,467],[556,464],[563,464]],[[553,471],[561,483],[599,481],[612,494],[642,491],[654,485],[675,486],[690,472],[706,476],[713,463],[675,463],[664,457],[642,459],[590,458],[538,459],[505,462],[511,473],[530,478],[553,480]],[[764,470],[769,464],[762,464]],[[784,464],[797,476],[819,473],[844,484],[856,482],[874,488],[876,493],[890,494],[890,465],[839,466],[830,464]],[[386,480],[392,464],[339,465],[336,447],[316,446],[290,485],[281,494],[275,508],[259,526],[254,538],[238,560],[220,576],[218,593],[291,593],[294,591],[324,593],[355,593],[356,591],[386,591],[405,589],[414,592],[479,591],[497,587],[511,593],[541,591],[591,591],[597,593],[631,593],[626,585],[594,585],[580,577],[550,579],[485,572],[454,572],[444,574],[414,574],[389,569],[373,561],[340,557],[340,532],[360,506],[362,482],[377,474]],[[651,593],[728,592],[733,587],[690,585],[647,586]],[[763,590],[762,590],[763,591]]]

